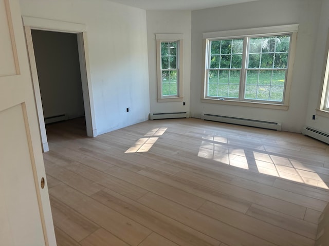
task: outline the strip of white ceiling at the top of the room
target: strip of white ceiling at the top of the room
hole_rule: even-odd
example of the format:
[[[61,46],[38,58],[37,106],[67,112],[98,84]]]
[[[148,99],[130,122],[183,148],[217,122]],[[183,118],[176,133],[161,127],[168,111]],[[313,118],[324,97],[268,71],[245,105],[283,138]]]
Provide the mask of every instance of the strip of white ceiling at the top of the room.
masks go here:
[[[110,0],[145,10],[197,10],[259,0]]]

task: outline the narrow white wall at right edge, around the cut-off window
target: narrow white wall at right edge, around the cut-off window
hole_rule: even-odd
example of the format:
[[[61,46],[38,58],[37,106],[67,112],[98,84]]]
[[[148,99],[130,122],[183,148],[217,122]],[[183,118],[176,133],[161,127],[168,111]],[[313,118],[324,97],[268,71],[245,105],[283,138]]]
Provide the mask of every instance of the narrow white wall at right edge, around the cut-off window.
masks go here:
[[[316,115],[312,120],[312,115],[316,114],[318,100],[321,99],[322,72],[325,69],[325,49],[329,29],[329,0],[323,0],[320,12],[320,22],[314,55],[314,66],[312,79],[309,88],[308,110],[306,115],[306,126],[329,133],[329,118]],[[328,115],[329,117],[329,115]]]

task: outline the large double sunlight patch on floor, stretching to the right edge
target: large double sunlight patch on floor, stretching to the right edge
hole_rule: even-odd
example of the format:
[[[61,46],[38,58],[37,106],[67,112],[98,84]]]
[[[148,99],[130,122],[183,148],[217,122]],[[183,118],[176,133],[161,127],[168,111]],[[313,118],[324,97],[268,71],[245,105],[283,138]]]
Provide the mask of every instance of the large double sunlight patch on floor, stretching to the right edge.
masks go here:
[[[215,138],[220,141],[214,140]],[[260,151],[232,148],[227,145],[228,139],[225,137],[207,135],[203,139],[206,140],[201,143],[197,155],[199,157],[253,172],[329,189],[319,174],[298,160],[264,153],[262,147],[259,147]]]

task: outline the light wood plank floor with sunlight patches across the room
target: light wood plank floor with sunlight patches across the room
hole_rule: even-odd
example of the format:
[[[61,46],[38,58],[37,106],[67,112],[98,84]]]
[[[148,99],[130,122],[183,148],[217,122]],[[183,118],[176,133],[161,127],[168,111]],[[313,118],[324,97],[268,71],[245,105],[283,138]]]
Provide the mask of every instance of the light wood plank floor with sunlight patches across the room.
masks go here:
[[[329,201],[329,146],[301,134],[199,119],[47,134],[59,246],[314,245]]]

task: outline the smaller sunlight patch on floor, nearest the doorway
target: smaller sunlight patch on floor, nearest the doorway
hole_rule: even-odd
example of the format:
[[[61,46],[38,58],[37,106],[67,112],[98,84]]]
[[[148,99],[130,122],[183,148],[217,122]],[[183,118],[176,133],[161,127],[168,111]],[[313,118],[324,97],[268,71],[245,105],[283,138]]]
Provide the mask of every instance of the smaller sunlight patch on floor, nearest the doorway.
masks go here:
[[[139,138],[135,144],[124,153],[148,152],[159,139],[159,136],[162,136],[167,129],[166,127],[152,129],[144,135],[145,137]]]

